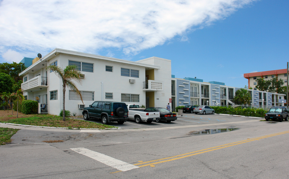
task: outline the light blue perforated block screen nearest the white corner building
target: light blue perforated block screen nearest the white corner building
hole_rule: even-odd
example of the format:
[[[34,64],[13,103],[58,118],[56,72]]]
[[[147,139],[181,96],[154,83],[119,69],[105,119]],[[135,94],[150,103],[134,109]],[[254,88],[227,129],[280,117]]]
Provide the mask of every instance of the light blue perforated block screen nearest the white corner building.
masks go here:
[[[177,79],[177,106],[190,105],[190,81]]]

